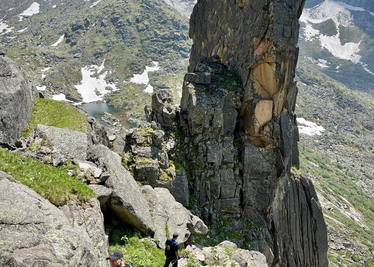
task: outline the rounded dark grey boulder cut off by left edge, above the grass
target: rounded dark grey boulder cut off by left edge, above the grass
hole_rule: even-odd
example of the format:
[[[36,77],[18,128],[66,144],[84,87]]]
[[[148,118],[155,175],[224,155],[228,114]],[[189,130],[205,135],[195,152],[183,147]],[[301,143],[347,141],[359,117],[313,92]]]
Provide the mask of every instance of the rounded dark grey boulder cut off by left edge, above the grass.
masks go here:
[[[0,55],[0,143],[14,143],[31,121],[33,99],[24,71]]]

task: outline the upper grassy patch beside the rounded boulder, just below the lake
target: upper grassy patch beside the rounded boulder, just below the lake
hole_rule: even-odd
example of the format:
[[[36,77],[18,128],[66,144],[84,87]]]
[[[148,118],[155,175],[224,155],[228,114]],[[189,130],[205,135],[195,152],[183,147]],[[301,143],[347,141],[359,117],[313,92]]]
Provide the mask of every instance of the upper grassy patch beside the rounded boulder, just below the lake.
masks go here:
[[[27,137],[38,124],[49,125],[73,131],[86,132],[88,122],[75,108],[52,99],[35,98],[31,123],[26,126],[21,136]]]

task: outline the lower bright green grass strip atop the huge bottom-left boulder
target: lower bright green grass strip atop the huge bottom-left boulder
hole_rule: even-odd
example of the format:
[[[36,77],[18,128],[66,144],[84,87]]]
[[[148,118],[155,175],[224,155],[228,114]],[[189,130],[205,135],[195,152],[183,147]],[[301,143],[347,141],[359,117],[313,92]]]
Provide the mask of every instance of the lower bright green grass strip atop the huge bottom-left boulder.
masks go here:
[[[95,197],[91,188],[66,173],[70,169],[77,169],[71,161],[55,168],[0,148],[0,170],[9,173],[56,206],[65,205],[68,200],[84,204]]]

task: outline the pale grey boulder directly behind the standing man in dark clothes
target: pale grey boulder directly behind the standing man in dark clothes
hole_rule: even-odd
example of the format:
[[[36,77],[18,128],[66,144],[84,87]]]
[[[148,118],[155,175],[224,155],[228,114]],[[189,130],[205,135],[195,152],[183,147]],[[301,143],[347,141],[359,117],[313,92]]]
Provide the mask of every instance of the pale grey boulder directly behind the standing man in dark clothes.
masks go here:
[[[164,244],[174,232],[180,234],[177,240],[180,244],[190,241],[191,234],[208,233],[204,222],[175,201],[168,189],[152,188],[150,185],[144,185],[141,189],[151,210],[155,227],[154,238],[159,240],[160,244]]]

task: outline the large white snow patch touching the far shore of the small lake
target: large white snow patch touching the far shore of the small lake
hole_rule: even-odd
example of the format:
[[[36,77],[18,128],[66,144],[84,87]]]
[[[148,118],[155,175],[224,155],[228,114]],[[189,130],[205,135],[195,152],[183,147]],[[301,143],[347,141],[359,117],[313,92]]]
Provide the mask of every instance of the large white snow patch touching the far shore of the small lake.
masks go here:
[[[105,71],[98,78],[91,77],[91,75],[99,74],[104,68],[104,62],[100,67],[96,65],[86,66],[81,69],[82,71],[82,85],[76,85],[78,93],[82,95],[83,102],[89,103],[98,100],[102,100],[104,95],[111,90],[106,90],[107,86],[111,87],[113,90],[116,90],[116,85],[113,83],[107,83],[105,77],[108,74],[108,71]],[[96,92],[99,95],[96,95]]]

